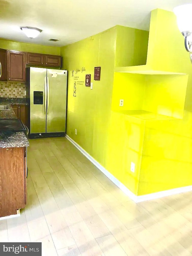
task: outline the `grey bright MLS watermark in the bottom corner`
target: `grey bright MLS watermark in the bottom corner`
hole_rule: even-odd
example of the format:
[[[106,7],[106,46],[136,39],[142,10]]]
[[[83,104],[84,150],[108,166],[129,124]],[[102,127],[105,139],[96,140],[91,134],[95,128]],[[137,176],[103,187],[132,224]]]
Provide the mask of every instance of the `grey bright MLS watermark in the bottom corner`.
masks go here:
[[[41,256],[41,243],[0,243],[0,255]]]

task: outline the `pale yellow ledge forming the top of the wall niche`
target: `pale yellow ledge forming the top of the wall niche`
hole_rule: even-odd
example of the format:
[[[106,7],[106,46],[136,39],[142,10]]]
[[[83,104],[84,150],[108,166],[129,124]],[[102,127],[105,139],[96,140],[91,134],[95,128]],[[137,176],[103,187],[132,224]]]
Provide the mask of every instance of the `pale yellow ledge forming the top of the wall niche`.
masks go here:
[[[186,75],[184,73],[168,72],[163,70],[153,70],[148,65],[115,67],[115,72],[143,74],[143,75]]]

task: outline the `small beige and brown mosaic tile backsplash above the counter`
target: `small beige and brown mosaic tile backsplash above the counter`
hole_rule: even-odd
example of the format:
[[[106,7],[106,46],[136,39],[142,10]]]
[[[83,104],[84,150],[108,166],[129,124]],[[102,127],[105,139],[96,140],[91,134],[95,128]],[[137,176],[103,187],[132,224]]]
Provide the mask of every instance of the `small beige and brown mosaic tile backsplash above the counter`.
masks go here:
[[[26,84],[22,82],[0,82],[0,97],[26,98]]]

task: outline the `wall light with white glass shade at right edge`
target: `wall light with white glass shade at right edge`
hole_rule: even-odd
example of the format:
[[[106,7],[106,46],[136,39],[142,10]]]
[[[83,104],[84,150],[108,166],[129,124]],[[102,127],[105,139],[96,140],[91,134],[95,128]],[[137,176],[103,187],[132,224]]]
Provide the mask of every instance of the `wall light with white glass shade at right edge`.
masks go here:
[[[173,12],[177,16],[177,25],[185,38],[185,49],[190,53],[192,62],[192,4],[177,6]]]

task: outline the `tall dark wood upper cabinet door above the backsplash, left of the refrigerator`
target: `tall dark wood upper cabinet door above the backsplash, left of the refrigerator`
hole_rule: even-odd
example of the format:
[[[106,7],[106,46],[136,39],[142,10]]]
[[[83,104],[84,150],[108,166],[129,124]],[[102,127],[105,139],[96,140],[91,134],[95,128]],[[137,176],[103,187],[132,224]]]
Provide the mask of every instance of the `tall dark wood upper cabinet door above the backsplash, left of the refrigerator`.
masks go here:
[[[26,53],[7,51],[8,81],[26,80]]]

